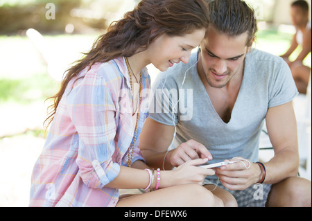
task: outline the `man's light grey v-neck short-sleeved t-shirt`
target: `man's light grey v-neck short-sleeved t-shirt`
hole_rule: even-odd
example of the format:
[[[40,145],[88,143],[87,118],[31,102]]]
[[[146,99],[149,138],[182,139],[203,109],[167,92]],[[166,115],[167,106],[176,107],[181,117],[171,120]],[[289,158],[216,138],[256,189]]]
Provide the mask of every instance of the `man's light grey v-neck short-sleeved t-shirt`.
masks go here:
[[[245,58],[232,116],[225,123],[198,76],[197,61],[198,53],[193,53],[188,64],[180,62],[159,73],[153,84],[149,117],[164,125],[176,125],[175,147],[190,139],[205,145],[214,157],[209,163],[233,157],[258,161],[268,108],[288,103],[298,94],[288,65],[275,55],[252,49]]]

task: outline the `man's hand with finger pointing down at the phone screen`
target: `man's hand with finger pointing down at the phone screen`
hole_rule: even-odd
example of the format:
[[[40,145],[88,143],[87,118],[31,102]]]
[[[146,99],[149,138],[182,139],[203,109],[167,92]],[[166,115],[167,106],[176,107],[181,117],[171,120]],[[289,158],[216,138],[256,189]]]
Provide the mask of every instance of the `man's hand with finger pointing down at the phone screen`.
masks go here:
[[[204,145],[197,141],[189,140],[173,150],[170,162],[177,167],[187,161],[199,158],[211,160],[212,156]]]

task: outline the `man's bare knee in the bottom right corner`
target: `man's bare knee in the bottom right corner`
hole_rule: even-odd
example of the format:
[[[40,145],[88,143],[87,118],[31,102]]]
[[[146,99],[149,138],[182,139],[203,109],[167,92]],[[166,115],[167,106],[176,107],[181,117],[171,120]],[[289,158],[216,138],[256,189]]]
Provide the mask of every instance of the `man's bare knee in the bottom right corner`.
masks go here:
[[[266,206],[311,207],[311,182],[300,177],[290,177],[272,185]]]

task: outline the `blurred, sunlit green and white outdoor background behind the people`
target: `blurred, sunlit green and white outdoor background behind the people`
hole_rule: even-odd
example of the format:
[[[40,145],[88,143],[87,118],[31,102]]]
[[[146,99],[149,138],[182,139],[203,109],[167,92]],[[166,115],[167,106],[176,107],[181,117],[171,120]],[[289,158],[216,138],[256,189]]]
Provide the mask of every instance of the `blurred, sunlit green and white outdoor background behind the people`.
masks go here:
[[[46,98],[56,94],[71,63],[89,51],[112,21],[138,2],[0,0],[0,206],[28,206],[31,172],[45,141],[43,122],[51,105]],[[255,48],[275,55],[285,53],[295,33],[292,2],[248,0],[259,19]],[[311,9],[311,0],[308,2]],[[311,53],[304,64],[311,67]],[[148,69],[154,80],[157,69]],[[306,118],[309,102],[311,110],[311,96],[300,95],[294,105],[300,175],[311,180],[311,115]],[[261,145],[270,145],[266,137]],[[269,151],[263,151],[263,159],[272,154]]]

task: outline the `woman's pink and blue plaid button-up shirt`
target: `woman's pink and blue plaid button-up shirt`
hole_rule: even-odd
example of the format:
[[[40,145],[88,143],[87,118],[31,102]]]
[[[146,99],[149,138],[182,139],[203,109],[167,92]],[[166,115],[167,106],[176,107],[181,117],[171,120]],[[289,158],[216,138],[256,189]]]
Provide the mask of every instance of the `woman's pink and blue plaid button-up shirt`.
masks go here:
[[[132,163],[143,160],[139,134],[148,116],[150,76],[144,91]],[[44,149],[33,168],[29,206],[116,206],[119,190],[106,188],[128,165],[135,132],[132,94],[124,58],[94,64],[68,85]]]

